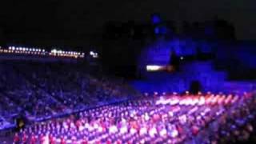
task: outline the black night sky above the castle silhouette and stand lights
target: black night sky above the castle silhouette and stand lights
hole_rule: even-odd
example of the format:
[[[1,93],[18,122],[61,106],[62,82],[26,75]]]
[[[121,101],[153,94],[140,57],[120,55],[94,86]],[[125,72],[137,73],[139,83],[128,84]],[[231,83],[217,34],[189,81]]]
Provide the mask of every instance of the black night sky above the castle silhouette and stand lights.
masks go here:
[[[82,38],[101,32],[106,21],[143,22],[153,12],[167,20],[190,22],[218,15],[234,23],[239,39],[256,38],[255,0],[5,0],[0,2],[0,26],[35,38]]]

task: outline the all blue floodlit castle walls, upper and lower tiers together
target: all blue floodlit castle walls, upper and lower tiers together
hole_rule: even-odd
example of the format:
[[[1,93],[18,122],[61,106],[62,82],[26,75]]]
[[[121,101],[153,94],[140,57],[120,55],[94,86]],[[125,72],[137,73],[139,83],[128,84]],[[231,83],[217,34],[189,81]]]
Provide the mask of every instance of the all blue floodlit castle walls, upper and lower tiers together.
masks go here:
[[[175,73],[146,72],[146,65],[167,65],[170,61],[170,52],[174,50],[178,56],[193,55],[197,47],[202,53],[214,51],[217,60],[221,63],[228,62],[236,65],[234,58],[244,66],[256,68],[256,45],[254,44],[230,44],[222,42],[196,42],[191,39],[174,39],[171,41],[158,40],[146,47],[139,58],[139,69],[144,80],[134,81],[132,85],[142,92],[184,92],[190,90],[190,83],[201,83],[202,91],[212,92],[243,92],[255,89],[255,81],[230,81],[227,70],[216,70],[214,61],[190,62],[182,64],[181,71]]]

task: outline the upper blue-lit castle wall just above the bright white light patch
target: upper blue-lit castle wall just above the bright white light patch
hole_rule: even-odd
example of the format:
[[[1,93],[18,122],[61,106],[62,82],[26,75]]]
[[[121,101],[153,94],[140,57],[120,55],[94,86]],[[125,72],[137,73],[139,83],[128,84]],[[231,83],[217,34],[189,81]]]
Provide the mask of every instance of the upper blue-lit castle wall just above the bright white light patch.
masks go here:
[[[146,65],[168,65],[172,51],[182,57],[196,54],[197,49],[200,49],[202,53],[210,53],[212,47],[214,47],[213,42],[198,42],[179,38],[170,41],[159,39],[142,50],[142,54],[138,58],[138,69],[145,70]]]

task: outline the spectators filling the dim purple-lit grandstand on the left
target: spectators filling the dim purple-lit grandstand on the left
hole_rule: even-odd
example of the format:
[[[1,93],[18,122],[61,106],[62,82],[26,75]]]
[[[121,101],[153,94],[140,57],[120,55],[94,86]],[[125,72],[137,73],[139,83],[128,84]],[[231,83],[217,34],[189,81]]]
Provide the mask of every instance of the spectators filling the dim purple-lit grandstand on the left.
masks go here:
[[[50,118],[132,93],[122,80],[90,74],[81,63],[1,62],[0,127],[20,114],[32,120]]]

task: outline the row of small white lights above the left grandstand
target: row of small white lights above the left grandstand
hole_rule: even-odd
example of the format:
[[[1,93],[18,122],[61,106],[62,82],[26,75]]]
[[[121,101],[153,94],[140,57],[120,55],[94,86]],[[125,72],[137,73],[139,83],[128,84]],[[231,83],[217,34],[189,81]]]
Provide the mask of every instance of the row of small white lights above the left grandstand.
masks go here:
[[[63,50],[56,50],[53,49],[50,52],[47,52],[44,49],[40,48],[26,48],[26,47],[15,47],[9,46],[8,49],[2,49],[0,46],[0,53],[14,53],[14,54],[39,54],[39,55],[46,55],[49,54],[50,56],[54,57],[69,57],[69,58],[84,58],[85,53],[77,52],[77,51],[63,51]],[[96,57],[92,55],[94,58],[98,58],[98,54],[96,53]]]

